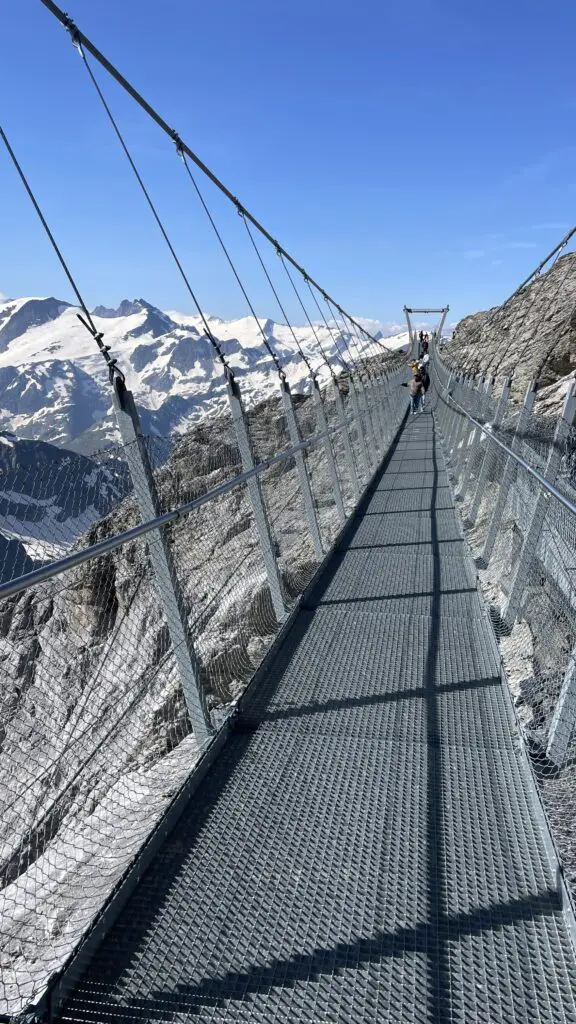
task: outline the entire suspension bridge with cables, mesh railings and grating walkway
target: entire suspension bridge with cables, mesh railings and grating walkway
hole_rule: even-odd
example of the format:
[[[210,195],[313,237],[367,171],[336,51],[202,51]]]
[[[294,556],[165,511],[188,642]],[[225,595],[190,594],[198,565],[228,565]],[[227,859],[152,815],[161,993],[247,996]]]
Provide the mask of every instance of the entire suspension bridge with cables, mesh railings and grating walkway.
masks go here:
[[[440,345],[447,306],[405,306],[407,351],[386,351],[42,2],[202,317],[223,406],[159,465],[0,129],[105,360],[131,481],[106,528],[0,583],[0,1019],[576,1021],[573,385],[544,416],[537,379],[519,400],[467,372]],[[259,326],[192,166],[240,214],[304,387],[260,329],[277,389],[247,407],[88,55],[175,145]],[[520,329],[573,233],[485,333],[519,296]],[[431,387],[412,416],[422,314]]]

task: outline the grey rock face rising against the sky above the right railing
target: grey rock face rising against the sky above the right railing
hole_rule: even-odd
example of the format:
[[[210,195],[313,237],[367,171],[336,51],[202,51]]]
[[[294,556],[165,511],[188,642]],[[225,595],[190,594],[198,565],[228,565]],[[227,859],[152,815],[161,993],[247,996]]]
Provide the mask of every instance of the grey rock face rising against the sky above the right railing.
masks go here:
[[[576,253],[561,256],[502,308],[460,321],[445,352],[448,362],[467,372],[513,375],[517,400],[535,378],[546,387],[571,374],[576,368]]]

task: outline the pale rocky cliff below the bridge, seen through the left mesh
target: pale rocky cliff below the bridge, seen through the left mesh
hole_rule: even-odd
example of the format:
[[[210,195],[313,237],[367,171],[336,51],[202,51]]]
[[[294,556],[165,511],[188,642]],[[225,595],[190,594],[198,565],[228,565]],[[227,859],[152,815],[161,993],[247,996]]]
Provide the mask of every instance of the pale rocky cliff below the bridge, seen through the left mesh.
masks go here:
[[[312,398],[297,418],[302,436],[316,432]],[[289,445],[278,400],[249,421],[258,461]],[[306,463],[328,545],[337,517],[321,446]],[[200,424],[155,470],[161,507],[240,470],[229,418]],[[290,603],[317,564],[293,459],[261,486]],[[77,544],[137,521],[128,495]],[[177,520],[168,542],[217,721],[278,629],[246,486]],[[11,1012],[74,948],[197,757],[146,539],[1,603],[0,675],[0,1012]]]

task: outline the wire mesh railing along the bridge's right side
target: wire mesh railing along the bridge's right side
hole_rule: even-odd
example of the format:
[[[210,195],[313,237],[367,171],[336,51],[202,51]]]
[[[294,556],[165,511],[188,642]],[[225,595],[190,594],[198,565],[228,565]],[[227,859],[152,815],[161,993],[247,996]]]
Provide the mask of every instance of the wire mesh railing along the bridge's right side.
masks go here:
[[[507,408],[498,425],[498,395],[483,400],[482,389],[438,353],[435,372],[449,476],[576,898],[574,389],[560,417],[546,418],[534,413],[529,386],[524,406]]]

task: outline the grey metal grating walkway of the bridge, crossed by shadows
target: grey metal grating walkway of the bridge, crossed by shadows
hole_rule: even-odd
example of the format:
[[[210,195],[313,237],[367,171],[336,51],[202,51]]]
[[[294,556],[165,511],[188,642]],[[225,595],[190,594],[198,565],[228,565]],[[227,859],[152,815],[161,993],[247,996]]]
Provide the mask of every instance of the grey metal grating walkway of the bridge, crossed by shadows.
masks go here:
[[[66,1021],[576,1022],[576,959],[434,419]]]

